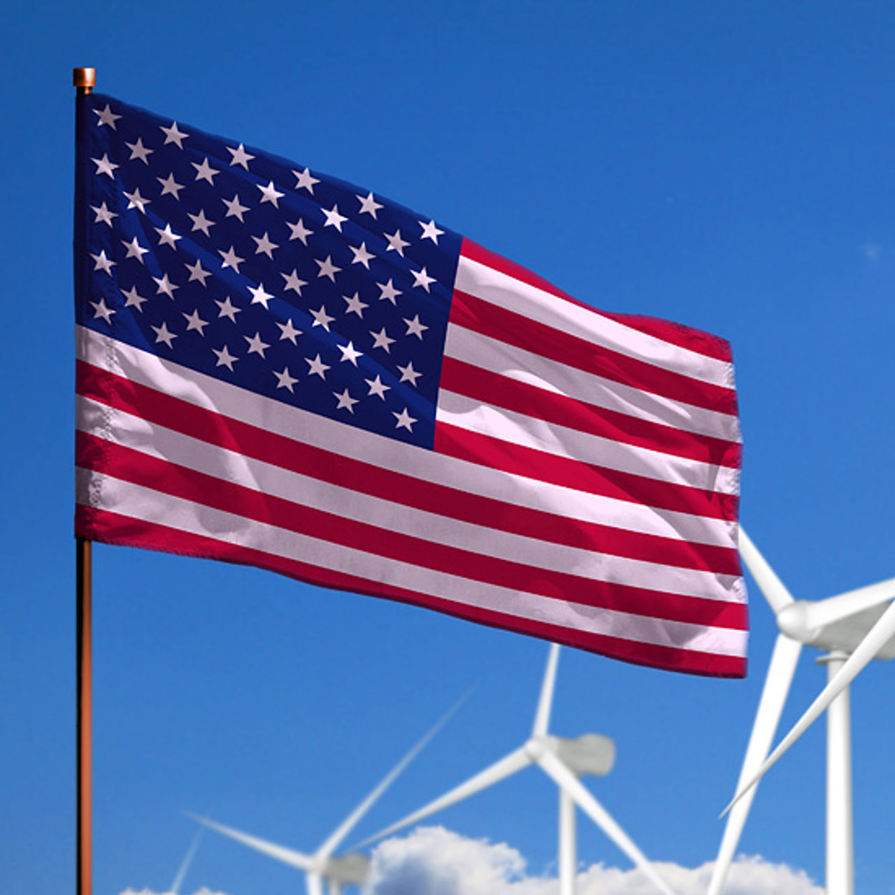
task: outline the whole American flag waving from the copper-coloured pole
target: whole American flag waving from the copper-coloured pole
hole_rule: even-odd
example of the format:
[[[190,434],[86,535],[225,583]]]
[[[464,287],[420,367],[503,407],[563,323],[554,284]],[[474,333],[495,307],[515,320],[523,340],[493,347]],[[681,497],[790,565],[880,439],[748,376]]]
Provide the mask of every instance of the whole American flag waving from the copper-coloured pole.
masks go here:
[[[729,345],[79,98],[76,531],[746,669]]]

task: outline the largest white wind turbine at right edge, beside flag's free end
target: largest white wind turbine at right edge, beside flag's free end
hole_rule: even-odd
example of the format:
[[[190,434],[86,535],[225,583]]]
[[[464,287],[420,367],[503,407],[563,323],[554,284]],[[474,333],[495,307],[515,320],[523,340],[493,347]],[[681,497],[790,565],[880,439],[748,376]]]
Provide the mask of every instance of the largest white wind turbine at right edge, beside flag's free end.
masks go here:
[[[848,681],[857,675],[857,670],[860,668],[848,680],[841,678],[838,672],[847,663],[852,668],[855,667],[856,663],[849,660],[852,653],[855,654],[854,659],[863,659],[864,664],[872,658],[891,659],[895,656],[895,637],[892,636],[895,635],[895,628],[888,625],[881,629],[877,625],[886,613],[885,603],[895,597],[895,578],[840,593],[826,600],[794,600],[742,528],[739,530],[739,550],[746,567],[771,606],[780,634],[771,654],[771,665],[764,680],[752,735],[746,746],[746,758],[737,782],[738,795],[729,808],[728,822],[721,840],[708,895],[719,895],[722,890],[752,805],[755,795],[754,784],[761,773],[770,767],[771,762],[763,766],[764,759],[771,747],[771,740],[777,729],[803,644],[814,646],[823,652],[823,656],[817,661],[827,666],[830,682],[822,694],[829,698],[821,705],[819,697],[812,706],[814,718],[824,709],[827,710],[827,895],[852,895],[854,849]],[[891,616],[891,613],[887,614]],[[867,635],[874,628],[877,634],[875,640],[871,642]],[[834,680],[837,681],[835,691],[831,689]],[[800,724],[804,721],[805,719]],[[781,745],[788,747],[807,726],[808,724],[804,723],[796,736],[790,735],[789,742]],[[782,748],[778,749],[772,756],[774,760],[783,751]]]

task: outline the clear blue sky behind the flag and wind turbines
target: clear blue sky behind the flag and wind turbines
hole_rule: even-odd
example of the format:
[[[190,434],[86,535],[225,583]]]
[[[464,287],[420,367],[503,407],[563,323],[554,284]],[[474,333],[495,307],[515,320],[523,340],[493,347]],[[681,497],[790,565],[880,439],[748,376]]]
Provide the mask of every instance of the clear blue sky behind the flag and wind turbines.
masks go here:
[[[0,264],[10,475],[0,625],[4,892],[73,884],[72,65],[114,96],[368,186],[611,311],[729,338],[742,518],[797,596],[895,574],[889,4],[32,2],[4,13]],[[360,835],[518,745],[546,646],[198,560],[95,551],[95,891],[164,891],[182,809],[311,848],[473,684]],[[720,841],[770,656],[745,681],[584,653],[554,729],[606,733],[592,789],[646,854]],[[857,890],[895,891],[892,669],[853,688]],[[805,655],[783,724],[819,689]],[[823,729],[771,771],[741,843],[823,881]],[[552,875],[527,771],[444,814]],[[580,823],[583,865],[626,859]],[[208,836],[184,891],[300,891]]]

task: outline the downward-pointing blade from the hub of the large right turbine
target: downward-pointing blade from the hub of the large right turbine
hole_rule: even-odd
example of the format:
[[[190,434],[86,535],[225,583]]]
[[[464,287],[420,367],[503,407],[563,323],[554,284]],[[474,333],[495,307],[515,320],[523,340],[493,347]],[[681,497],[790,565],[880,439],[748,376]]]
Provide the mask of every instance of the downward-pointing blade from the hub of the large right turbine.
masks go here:
[[[762,698],[758,703],[758,711],[755,712],[752,735],[749,737],[749,745],[746,746],[746,758],[743,760],[743,768],[739,772],[737,789],[752,777],[771,748],[774,733],[780,722],[780,713],[783,711],[783,704],[786,703],[789,693],[789,685],[796,672],[796,663],[800,652],[802,652],[802,644],[797,640],[790,640],[784,634],[778,635],[774,651],[771,653],[768,674],[764,678]],[[719,895],[724,886],[724,878],[728,874],[730,862],[737,851],[739,837],[746,825],[746,817],[752,806],[754,794],[755,789],[750,789],[749,794],[730,813],[724,828],[724,836],[721,838],[707,895]]]

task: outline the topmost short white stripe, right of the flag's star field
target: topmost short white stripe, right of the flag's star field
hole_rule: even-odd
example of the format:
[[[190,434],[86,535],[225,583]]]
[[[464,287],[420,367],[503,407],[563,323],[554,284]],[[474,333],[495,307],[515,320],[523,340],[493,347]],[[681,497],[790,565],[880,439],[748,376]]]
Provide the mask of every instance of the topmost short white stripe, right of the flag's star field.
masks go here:
[[[544,326],[584,338],[595,345],[603,345],[638,361],[701,382],[733,388],[733,370],[729,362],[706,357],[627,327],[618,320],[604,317],[599,311],[568,302],[463,255],[460,255],[457,264],[454,287],[507,311],[537,320]]]

